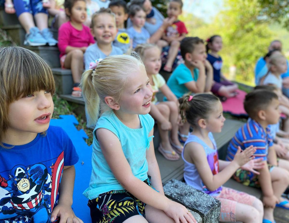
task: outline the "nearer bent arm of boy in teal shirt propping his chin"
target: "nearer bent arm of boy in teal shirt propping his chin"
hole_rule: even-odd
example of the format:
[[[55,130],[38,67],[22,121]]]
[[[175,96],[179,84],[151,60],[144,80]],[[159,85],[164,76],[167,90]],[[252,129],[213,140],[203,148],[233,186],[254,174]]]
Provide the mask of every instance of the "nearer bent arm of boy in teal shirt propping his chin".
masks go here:
[[[206,82],[205,66],[200,60],[193,61],[192,63],[194,67],[199,69],[199,77],[197,81],[190,81],[185,83],[185,86],[189,91],[192,91],[193,93],[203,93],[205,91]]]

